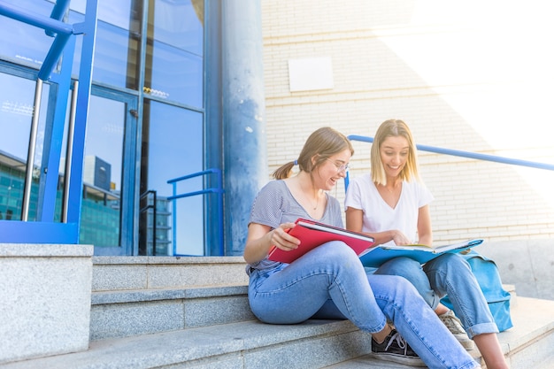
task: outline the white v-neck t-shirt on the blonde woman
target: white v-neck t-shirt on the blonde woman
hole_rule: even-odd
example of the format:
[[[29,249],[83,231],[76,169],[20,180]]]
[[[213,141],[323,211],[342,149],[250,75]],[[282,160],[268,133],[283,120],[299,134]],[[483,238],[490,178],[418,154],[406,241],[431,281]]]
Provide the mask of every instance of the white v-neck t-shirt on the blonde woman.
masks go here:
[[[397,229],[412,242],[417,242],[419,208],[429,204],[434,197],[420,181],[403,181],[398,204],[393,209],[383,200],[370,174],[350,181],[344,208],[364,212],[362,232],[374,233]],[[394,244],[393,241],[388,243]]]

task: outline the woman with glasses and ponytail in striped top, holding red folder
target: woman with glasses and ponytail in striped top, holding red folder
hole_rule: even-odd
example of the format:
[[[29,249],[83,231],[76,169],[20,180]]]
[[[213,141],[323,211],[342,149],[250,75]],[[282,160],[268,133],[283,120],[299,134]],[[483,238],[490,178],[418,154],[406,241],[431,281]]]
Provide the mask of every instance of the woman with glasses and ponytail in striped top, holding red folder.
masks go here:
[[[345,243],[323,243],[290,264],[267,258],[273,246],[302,247],[287,233],[298,218],[343,227],[340,204],[327,191],[346,176],[353,153],[344,135],[319,128],[298,159],[278,168],[276,181],[258,193],[243,255],[249,264],[251,310],[271,324],[350,319],[372,334],[373,356],[384,360],[432,368],[480,367],[408,281],[367,275]],[[295,165],[299,172],[291,175]]]

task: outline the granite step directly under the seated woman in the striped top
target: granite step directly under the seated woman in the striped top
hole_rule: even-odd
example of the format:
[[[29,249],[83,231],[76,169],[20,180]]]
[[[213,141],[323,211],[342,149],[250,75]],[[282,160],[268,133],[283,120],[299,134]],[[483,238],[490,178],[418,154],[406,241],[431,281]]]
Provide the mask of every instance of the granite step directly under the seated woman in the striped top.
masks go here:
[[[186,363],[196,369],[318,368],[365,355],[369,342],[348,320],[308,320],[293,326],[247,321],[101,340],[92,342],[88,351],[0,367],[148,369]]]

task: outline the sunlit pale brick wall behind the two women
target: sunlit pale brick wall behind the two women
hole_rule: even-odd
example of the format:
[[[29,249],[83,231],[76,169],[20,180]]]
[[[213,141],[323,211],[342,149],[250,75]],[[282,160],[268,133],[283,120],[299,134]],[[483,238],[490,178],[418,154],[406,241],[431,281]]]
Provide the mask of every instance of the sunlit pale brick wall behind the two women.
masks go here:
[[[318,127],[373,136],[389,118],[404,119],[419,144],[554,165],[552,8],[538,0],[263,0],[270,173]],[[320,77],[332,86],[291,91],[289,61],[314,58],[331,60],[332,73]],[[354,145],[351,176],[369,170],[371,144]],[[423,151],[419,159],[435,195],[437,243],[554,236],[553,171]],[[333,195],[342,201],[343,188]]]

